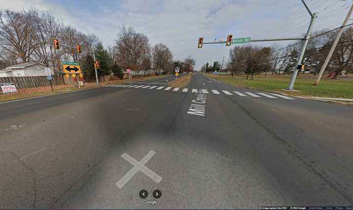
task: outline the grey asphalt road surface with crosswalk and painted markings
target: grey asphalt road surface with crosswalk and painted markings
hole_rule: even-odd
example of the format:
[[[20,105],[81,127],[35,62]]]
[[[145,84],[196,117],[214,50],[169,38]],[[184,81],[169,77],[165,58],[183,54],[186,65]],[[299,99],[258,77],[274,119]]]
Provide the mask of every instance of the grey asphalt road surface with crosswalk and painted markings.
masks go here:
[[[353,206],[353,107],[168,79],[0,103],[0,208]]]

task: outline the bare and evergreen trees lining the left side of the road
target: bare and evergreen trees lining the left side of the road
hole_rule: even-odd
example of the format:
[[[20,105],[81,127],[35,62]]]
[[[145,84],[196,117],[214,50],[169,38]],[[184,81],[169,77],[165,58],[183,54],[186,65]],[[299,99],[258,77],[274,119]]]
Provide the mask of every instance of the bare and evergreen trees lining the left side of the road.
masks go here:
[[[52,67],[55,74],[62,70],[61,61],[77,61],[86,79],[94,78],[93,55],[77,53],[76,50],[61,47],[54,50],[52,39],[60,44],[82,50],[95,51],[101,63],[100,75],[112,72],[124,77],[122,70],[163,70],[172,73],[174,67],[192,71],[195,61],[188,57],[184,61],[173,60],[173,53],[165,44],[151,46],[149,38],[132,27],[121,26],[113,46],[104,48],[94,34],[82,33],[72,26],[65,26],[49,12],[32,8],[24,11],[0,10],[0,69],[9,65],[36,61]]]

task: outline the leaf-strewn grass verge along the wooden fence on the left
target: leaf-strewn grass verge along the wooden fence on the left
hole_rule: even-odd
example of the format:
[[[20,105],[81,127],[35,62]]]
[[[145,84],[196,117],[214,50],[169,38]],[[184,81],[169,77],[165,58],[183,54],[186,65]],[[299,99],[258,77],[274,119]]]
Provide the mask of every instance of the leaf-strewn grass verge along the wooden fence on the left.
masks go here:
[[[130,79],[130,82],[135,82],[135,81],[142,81],[142,80],[147,80],[147,79],[156,79],[156,78],[163,78],[167,75],[161,75],[161,76],[150,76],[146,78],[133,78]],[[122,79],[122,80],[110,80],[110,81],[102,81],[99,82],[99,86],[105,86],[105,85],[110,85],[110,84],[122,84],[129,82],[128,79]],[[53,90],[51,91],[51,87],[36,87],[36,88],[26,88],[26,89],[19,89],[17,93],[11,93],[11,94],[2,94],[1,89],[0,89],[0,102],[6,102],[6,101],[13,101],[13,100],[19,100],[19,99],[26,99],[26,98],[32,98],[32,97],[37,97],[37,96],[45,96],[45,95],[51,95],[55,93],[63,93],[63,92],[70,92],[70,91],[75,91],[75,90],[83,90],[83,89],[90,89],[96,87],[96,82],[88,82],[87,86],[81,86],[81,88],[78,88],[75,86],[75,84],[66,84],[66,85],[55,85],[53,86]]]

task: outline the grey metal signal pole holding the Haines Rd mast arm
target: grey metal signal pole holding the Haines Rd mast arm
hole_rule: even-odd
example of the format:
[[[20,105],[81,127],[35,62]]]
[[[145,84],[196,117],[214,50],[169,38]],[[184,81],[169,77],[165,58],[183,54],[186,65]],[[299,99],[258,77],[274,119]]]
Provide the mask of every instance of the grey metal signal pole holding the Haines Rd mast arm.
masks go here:
[[[299,72],[299,69],[297,69],[297,66],[302,64],[303,56],[304,56],[304,53],[305,53],[305,50],[306,50],[306,46],[307,46],[307,43],[309,42],[309,39],[310,39],[310,36],[311,36],[311,31],[312,31],[312,28],[314,26],[314,23],[315,23],[315,20],[316,20],[316,17],[317,17],[317,13],[312,14],[310,9],[307,7],[306,3],[304,2],[304,0],[302,0],[302,2],[304,4],[306,10],[309,12],[309,14],[311,16],[311,21],[310,21],[309,27],[308,27],[308,29],[306,31],[306,35],[305,35],[305,39],[304,39],[304,43],[303,43],[303,48],[302,48],[301,53],[299,54],[297,65],[295,66],[295,69],[293,71],[293,75],[292,75],[292,78],[291,78],[291,80],[289,82],[289,86],[286,89],[286,90],[290,90],[290,91],[293,90],[294,82],[297,79],[297,75],[298,75],[298,72]]]

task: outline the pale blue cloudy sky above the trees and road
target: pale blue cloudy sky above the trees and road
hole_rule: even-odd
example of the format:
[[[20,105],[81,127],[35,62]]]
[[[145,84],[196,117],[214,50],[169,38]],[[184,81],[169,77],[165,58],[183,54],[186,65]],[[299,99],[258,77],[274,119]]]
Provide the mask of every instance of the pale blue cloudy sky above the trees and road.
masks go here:
[[[318,12],[314,30],[342,24],[351,0],[305,0]],[[122,24],[146,34],[151,45],[167,44],[174,59],[191,55],[196,70],[205,62],[222,62],[229,47],[224,44],[197,48],[204,41],[236,37],[277,38],[305,33],[310,16],[301,0],[1,0],[0,8],[50,11],[64,24],[97,35],[112,46]],[[353,23],[352,21],[350,23]],[[277,42],[285,46],[288,42]],[[253,43],[271,45],[272,42]]]

